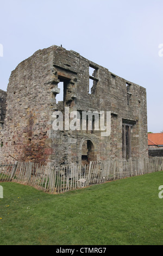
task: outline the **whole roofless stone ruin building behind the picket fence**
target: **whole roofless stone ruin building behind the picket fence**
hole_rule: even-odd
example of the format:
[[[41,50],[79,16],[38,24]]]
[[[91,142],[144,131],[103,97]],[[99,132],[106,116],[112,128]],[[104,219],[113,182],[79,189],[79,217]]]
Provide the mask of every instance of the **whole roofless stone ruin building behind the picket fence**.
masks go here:
[[[55,45],[36,51],[11,72],[0,103],[1,160],[57,165],[148,157],[146,89],[77,52]],[[65,107],[109,111],[110,135],[93,129],[93,115],[91,130],[54,130],[53,113],[65,117]]]

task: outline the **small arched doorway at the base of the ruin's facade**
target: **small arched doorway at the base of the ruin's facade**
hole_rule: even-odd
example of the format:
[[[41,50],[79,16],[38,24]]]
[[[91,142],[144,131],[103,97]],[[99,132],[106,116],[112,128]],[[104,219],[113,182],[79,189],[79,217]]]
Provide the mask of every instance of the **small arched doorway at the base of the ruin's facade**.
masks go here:
[[[83,139],[80,143],[81,163],[89,164],[96,161],[96,144],[89,138]]]

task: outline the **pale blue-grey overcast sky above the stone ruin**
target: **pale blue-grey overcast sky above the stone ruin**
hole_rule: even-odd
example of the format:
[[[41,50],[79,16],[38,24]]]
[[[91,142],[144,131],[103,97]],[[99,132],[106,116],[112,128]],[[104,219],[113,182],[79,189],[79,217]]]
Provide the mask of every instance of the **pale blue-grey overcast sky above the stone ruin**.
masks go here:
[[[145,87],[148,132],[160,132],[162,11],[162,0],[0,0],[0,89],[7,90],[11,71],[22,60],[62,44]]]

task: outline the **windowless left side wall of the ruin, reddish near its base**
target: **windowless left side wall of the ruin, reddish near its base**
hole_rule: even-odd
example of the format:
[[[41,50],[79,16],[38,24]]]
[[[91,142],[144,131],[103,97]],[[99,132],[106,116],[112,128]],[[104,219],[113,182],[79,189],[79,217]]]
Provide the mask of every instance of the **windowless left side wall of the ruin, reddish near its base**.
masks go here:
[[[1,139],[1,157],[20,161],[48,159],[49,107],[53,52],[37,51],[11,72],[7,88],[7,114]]]

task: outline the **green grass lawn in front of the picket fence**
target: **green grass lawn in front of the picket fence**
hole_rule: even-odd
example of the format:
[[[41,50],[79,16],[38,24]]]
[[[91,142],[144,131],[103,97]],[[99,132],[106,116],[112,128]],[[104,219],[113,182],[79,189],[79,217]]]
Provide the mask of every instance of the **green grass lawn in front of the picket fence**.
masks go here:
[[[0,185],[0,245],[163,244],[163,172],[57,195]]]

